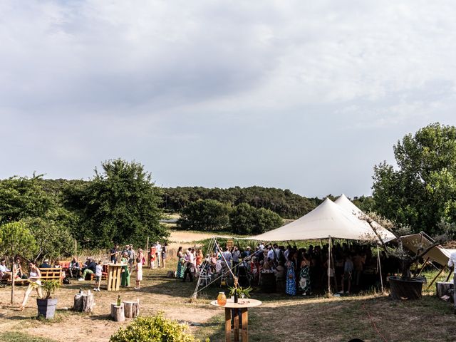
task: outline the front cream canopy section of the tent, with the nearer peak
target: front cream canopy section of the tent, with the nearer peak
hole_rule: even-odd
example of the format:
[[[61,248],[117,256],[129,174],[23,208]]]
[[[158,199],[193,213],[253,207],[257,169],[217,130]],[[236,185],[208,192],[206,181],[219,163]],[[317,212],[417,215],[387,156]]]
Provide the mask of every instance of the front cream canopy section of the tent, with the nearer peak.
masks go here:
[[[378,242],[378,237],[366,222],[362,222],[328,198],[300,219],[247,239],[296,241],[328,237]]]

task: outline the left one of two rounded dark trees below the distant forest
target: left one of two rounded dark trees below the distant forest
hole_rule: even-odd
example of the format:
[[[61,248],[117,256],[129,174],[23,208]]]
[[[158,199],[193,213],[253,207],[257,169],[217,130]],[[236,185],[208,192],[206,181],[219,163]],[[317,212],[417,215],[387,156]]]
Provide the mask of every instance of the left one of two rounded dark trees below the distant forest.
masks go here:
[[[230,211],[231,207],[228,204],[214,199],[199,199],[182,209],[177,227],[211,232],[228,230]]]

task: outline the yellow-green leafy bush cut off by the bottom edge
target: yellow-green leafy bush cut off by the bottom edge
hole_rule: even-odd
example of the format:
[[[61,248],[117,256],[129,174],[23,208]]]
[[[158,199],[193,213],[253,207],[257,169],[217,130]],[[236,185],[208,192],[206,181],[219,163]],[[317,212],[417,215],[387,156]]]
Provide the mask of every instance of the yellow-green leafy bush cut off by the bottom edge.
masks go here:
[[[152,317],[139,317],[126,328],[120,328],[110,342],[198,342],[187,326],[163,317],[162,312]]]

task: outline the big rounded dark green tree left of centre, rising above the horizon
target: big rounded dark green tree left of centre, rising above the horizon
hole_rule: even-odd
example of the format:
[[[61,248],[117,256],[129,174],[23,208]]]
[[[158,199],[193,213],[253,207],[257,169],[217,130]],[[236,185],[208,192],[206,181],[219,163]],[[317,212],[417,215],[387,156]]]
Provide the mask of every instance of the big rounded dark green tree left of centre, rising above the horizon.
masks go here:
[[[160,226],[160,189],[138,162],[108,160],[103,172],[95,170],[91,182],[64,190],[66,206],[74,210],[80,225],[73,231],[84,247],[109,247],[115,243],[144,245],[167,237]]]

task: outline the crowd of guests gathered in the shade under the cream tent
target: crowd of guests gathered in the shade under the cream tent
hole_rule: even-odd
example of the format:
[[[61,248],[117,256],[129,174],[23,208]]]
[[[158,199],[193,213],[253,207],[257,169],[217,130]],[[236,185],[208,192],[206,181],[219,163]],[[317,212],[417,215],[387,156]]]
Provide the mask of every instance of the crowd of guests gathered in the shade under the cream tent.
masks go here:
[[[334,244],[328,259],[328,244],[309,248],[265,245],[259,243],[254,250],[247,246],[214,248],[204,256],[202,249],[190,247],[177,251],[176,277],[193,281],[200,272],[212,279],[231,276],[229,269],[239,278],[239,284],[261,285],[261,275],[274,274],[276,283],[284,287],[286,294],[304,296],[313,291],[324,292],[331,284],[331,291],[349,294],[370,286],[366,269],[375,273],[376,257],[366,245]],[[266,279],[266,276],[263,276]]]

